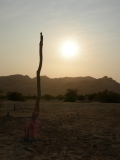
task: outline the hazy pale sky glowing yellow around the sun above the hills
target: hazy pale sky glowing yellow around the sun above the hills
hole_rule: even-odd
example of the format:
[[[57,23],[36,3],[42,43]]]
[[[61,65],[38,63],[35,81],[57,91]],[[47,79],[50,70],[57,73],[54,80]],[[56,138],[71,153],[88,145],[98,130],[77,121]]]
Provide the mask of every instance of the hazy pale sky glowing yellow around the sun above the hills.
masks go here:
[[[0,0],[0,76],[112,77],[120,82],[120,0]],[[73,58],[60,47],[73,40]]]

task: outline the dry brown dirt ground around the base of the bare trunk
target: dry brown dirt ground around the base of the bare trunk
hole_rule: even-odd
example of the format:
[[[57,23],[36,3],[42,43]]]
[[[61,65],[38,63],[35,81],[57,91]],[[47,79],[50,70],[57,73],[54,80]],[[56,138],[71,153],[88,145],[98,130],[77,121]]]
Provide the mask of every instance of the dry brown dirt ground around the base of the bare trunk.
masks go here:
[[[3,104],[0,160],[120,160],[120,104],[42,101],[35,143],[23,140],[35,102]]]

